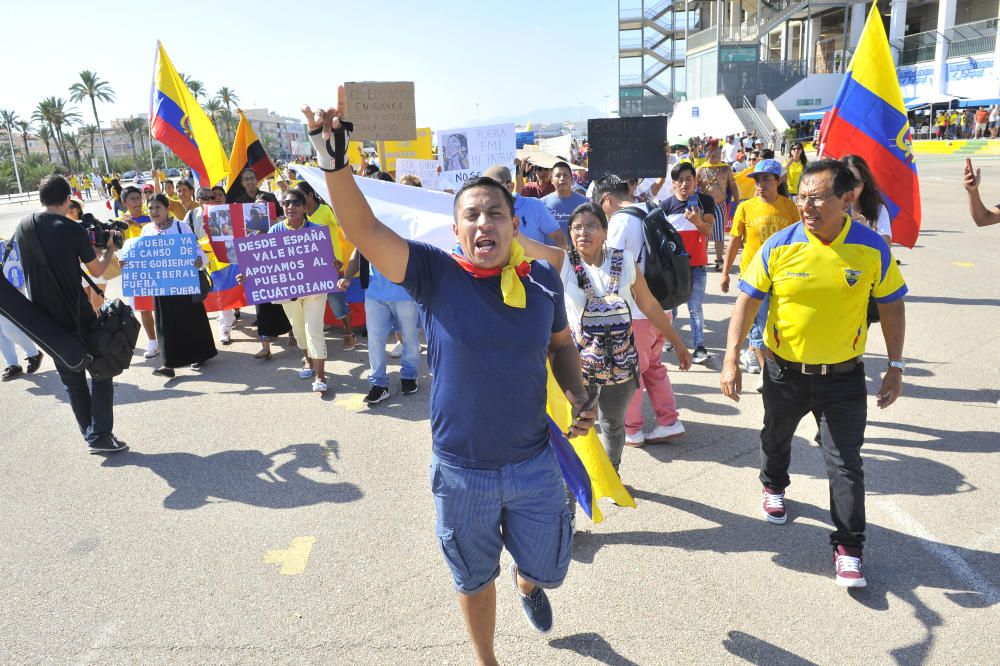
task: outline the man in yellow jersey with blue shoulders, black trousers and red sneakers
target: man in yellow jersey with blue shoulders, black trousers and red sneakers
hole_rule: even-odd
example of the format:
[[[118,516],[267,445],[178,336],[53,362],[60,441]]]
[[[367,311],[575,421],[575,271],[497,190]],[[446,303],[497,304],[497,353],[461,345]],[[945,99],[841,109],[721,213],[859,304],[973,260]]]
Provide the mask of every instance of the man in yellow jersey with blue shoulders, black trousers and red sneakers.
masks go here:
[[[796,197],[802,222],[772,235],[740,281],[721,386],[723,395],[739,400],[740,347],[761,301],[770,294],[760,435],[764,515],[775,524],[787,518],[792,437],[811,412],[820,424],[830,479],[835,527],[830,543],[837,583],[864,587],[861,445],[868,404],[861,357],[866,312],[873,298],[889,358],[877,400],[884,409],[902,391],[906,285],[885,240],[847,215],[854,184],[854,175],[836,160],[813,162],[803,170]]]

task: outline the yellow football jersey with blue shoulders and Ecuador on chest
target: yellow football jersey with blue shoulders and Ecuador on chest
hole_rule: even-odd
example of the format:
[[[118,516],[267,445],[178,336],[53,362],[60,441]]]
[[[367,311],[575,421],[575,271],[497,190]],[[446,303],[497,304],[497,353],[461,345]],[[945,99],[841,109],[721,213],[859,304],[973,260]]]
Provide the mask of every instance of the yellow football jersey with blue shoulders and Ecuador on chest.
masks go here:
[[[863,354],[869,298],[891,303],[907,291],[885,240],[847,216],[829,245],[801,223],[771,236],[740,289],[756,299],[771,294],[764,344],[781,358],[810,364]]]

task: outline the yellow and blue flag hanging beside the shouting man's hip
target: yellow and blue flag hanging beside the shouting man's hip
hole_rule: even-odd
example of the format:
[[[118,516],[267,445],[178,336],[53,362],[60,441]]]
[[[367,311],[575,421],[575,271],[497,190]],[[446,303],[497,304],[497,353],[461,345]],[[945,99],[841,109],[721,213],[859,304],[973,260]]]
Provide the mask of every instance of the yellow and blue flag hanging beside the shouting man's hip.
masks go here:
[[[600,497],[610,497],[618,506],[635,508],[635,500],[625,489],[618,473],[611,466],[608,454],[604,452],[601,440],[591,428],[583,437],[568,441],[563,434],[573,422],[573,407],[552,376],[549,368],[548,403],[549,445],[556,454],[563,480],[573,491],[576,501],[595,523],[604,520],[604,514],[597,506]]]

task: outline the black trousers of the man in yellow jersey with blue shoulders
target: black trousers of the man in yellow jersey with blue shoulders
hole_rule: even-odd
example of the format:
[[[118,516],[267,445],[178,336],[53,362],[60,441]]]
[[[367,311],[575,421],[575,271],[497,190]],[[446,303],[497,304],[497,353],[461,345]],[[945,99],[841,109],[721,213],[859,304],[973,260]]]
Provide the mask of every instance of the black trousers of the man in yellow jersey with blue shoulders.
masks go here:
[[[834,546],[860,548],[865,540],[865,473],[861,444],[868,420],[864,365],[839,375],[803,375],[767,359],[764,429],[760,433],[760,480],[783,491],[790,483],[792,437],[802,417],[816,417],[830,479]]]

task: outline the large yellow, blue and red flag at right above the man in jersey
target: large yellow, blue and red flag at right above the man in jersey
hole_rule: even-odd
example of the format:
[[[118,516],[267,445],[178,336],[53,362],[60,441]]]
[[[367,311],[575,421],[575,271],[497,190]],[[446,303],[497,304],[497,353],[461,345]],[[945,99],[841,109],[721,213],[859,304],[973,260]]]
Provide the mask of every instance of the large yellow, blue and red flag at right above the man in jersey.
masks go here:
[[[868,162],[889,209],[893,242],[913,247],[920,233],[920,185],[903,93],[877,2],[819,141],[823,157],[854,154]]]

